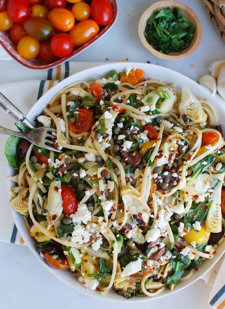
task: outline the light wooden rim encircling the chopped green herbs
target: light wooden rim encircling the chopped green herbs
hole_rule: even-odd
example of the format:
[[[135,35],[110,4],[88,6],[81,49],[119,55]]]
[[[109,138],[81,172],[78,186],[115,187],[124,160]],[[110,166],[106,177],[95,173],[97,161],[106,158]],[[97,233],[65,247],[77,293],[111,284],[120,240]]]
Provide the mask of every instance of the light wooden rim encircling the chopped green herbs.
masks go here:
[[[155,49],[152,45],[150,45],[146,38],[144,37],[143,33],[144,33],[144,28],[146,27],[146,23],[143,22],[143,20],[145,18],[147,18],[147,16],[150,16],[150,13],[152,13],[152,11],[156,10],[156,9],[161,9],[162,6],[177,6],[183,10],[185,10],[188,14],[192,15],[192,17],[195,19],[196,22],[196,38],[195,38],[195,42],[192,45],[191,48],[187,47],[186,49],[184,49],[182,52],[180,53],[176,53],[176,54],[165,54],[165,53],[161,53],[159,52],[157,49]],[[138,35],[139,35],[139,39],[141,41],[141,43],[143,44],[143,46],[148,50],[149,53],[151,53],[153,56],[160,58],[160,59],[164,59],[164,60],[179,60],[179,59],[183,59],[185,57],[190,56],[192,53],[194,53],[196,51],[196,49],[199,47],[199,45],[201,44],[201,40],[202,40],[202,25],[200,20],[198,19],[197,15],[195,14],[195,12],[187,5],[181,3],[181,2],[177,2],[177,1],[173,1],[173,0],[162,0],[162,1],[157,1],[154,2],[151,6],[149,6],[149,8],[143,12],[143,14],[141,15],[140,19],[139,19],[139,23],[138,23]]]

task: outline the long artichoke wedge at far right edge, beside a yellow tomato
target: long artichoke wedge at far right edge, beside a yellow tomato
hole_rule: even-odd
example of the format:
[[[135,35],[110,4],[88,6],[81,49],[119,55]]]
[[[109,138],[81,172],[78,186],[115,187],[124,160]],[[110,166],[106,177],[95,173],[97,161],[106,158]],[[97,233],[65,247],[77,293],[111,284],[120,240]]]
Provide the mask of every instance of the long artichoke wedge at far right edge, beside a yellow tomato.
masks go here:
[[[209,199],[209,202],[213,202],[205,221],[207,230],[212,233],[219,233],[222,231],[221,190],[225,173],[218,174],[217,176],[220,182]]]

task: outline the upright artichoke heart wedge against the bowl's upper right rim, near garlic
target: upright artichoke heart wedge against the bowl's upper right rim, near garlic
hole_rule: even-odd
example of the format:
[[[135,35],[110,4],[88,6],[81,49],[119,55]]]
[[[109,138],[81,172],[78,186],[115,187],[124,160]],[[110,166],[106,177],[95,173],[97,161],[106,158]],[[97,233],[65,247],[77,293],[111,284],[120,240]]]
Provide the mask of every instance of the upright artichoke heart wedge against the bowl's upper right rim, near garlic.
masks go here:
[[[179,104],[180,123],[187,125],[186,119],[189,121],[188,125],[196,123],[204,123],[207,115],[202,109],[199,100],[191,93],[187,87],[182,87],[181,102]],[[185,117],[183,117],[185,115]],[[183,119],[184,118],[184,119]]]

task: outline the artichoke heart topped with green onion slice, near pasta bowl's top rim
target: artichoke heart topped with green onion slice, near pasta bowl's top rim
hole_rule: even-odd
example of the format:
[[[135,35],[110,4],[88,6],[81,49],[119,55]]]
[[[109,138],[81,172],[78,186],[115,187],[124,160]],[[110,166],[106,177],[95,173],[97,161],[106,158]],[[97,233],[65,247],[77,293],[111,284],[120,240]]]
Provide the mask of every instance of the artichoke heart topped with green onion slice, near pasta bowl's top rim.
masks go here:
[[[160,98],[162,98],[159,95],[159,93],[161,91],[166,92],[167,93],[166,96],[168,98],[164,97],[163,101],[161,102],[161,106],[157,107],[158,100]],[[154,105],[154,106],[156,106],[156,109],[163,114],[169,112],[173,108],[173,105],[174,105],[174,103],[176,103],[176,101],[177,101],[177,96],[176,96],[175,92],[168,87],[159,87],[159,88],[151,91],[142,100],[144,105],[148,105],[148,106]]]

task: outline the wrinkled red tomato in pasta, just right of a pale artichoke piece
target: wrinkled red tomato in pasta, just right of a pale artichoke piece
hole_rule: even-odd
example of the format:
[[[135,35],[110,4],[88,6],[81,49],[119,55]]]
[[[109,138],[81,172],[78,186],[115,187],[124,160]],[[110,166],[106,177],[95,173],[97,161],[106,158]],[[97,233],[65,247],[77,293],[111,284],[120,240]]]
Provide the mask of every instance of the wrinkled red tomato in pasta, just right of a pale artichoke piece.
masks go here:
[[[77,196],[68,184],[61,184],[61,189],[61,196],[63,200],[63,213],[70,216],[77,211]]]

